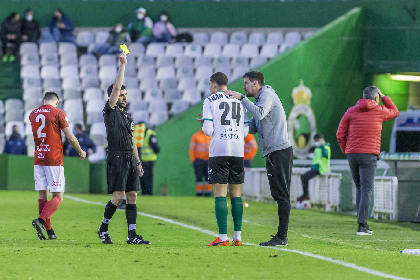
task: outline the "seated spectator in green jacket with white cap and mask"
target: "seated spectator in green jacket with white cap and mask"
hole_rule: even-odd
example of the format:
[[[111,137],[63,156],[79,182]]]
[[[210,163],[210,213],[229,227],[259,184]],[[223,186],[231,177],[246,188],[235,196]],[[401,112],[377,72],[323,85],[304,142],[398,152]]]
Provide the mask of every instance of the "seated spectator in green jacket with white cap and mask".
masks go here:
[[[138,8],[136,14],[137,18],[128,26],[131,41],[147,45],[152,41],[153,21],[146,16],[145,8]]]

